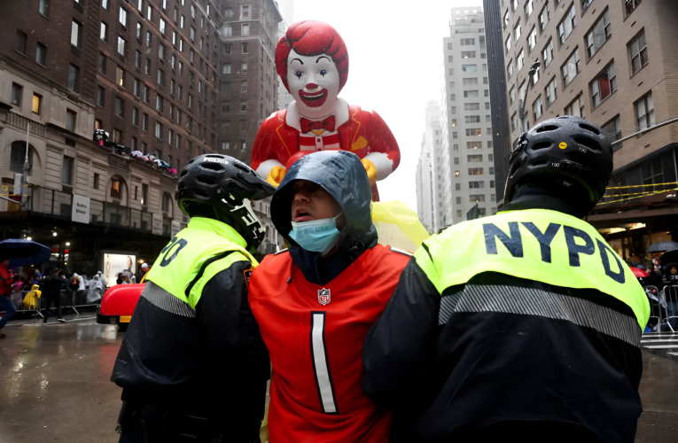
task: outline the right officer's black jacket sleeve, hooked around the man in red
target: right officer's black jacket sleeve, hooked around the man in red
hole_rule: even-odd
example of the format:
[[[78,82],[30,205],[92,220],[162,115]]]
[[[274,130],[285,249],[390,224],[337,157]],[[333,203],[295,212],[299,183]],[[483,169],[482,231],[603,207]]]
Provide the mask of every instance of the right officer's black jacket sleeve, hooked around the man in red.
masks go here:
[[[363,344],[362,392],[370,399],[392,402],[409,377],[425,369],[434,353],[439,308],[440,294],[412,257]]]

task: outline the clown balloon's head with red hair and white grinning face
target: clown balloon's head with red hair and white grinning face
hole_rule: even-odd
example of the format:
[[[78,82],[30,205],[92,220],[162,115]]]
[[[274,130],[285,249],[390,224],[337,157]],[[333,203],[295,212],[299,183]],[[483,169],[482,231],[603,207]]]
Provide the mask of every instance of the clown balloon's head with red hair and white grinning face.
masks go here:
[[[326,23],[295,23],[277,44],[276,70],[301,115],[329,115],[337,108],[348,77],[346,44]]]

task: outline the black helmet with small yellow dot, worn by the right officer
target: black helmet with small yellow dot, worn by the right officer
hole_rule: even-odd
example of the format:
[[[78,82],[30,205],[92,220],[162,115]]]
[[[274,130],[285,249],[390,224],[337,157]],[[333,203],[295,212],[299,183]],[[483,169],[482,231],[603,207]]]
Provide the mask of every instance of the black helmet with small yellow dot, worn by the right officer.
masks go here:
[[[572,115],[544,120],[518,139],[510,153],[504,203],[526,176],[560,175],[588,191],[588,210],[603,196],[612,175],[612,144],[603,128]],[[588,212],[587,210],[587,212]]]

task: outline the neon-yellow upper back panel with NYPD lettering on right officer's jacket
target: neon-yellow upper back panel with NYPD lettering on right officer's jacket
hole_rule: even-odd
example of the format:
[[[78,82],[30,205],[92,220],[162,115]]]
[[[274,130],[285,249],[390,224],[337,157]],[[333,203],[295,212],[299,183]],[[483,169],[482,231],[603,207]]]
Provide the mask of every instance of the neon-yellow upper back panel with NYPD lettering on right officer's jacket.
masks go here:
[[[631,307],[641,328],[650,315],[643,288],[596,229],[556,211],[510,211],[456,224],[425,240],[415,259],[440,293],[499,272],[604,292]]]

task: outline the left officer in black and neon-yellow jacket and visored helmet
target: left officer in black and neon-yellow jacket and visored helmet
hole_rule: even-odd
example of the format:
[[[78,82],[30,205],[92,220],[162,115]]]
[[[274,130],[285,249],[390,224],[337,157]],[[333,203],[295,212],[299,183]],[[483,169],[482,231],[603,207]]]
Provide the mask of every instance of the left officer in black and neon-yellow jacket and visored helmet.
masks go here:
[[[247,303],[264,229],[250,202],[275,188],[238,159],[192,159],[176,202],[191,216],[146,276],[113,368],[121,442],[258,442],[269,355]]]

